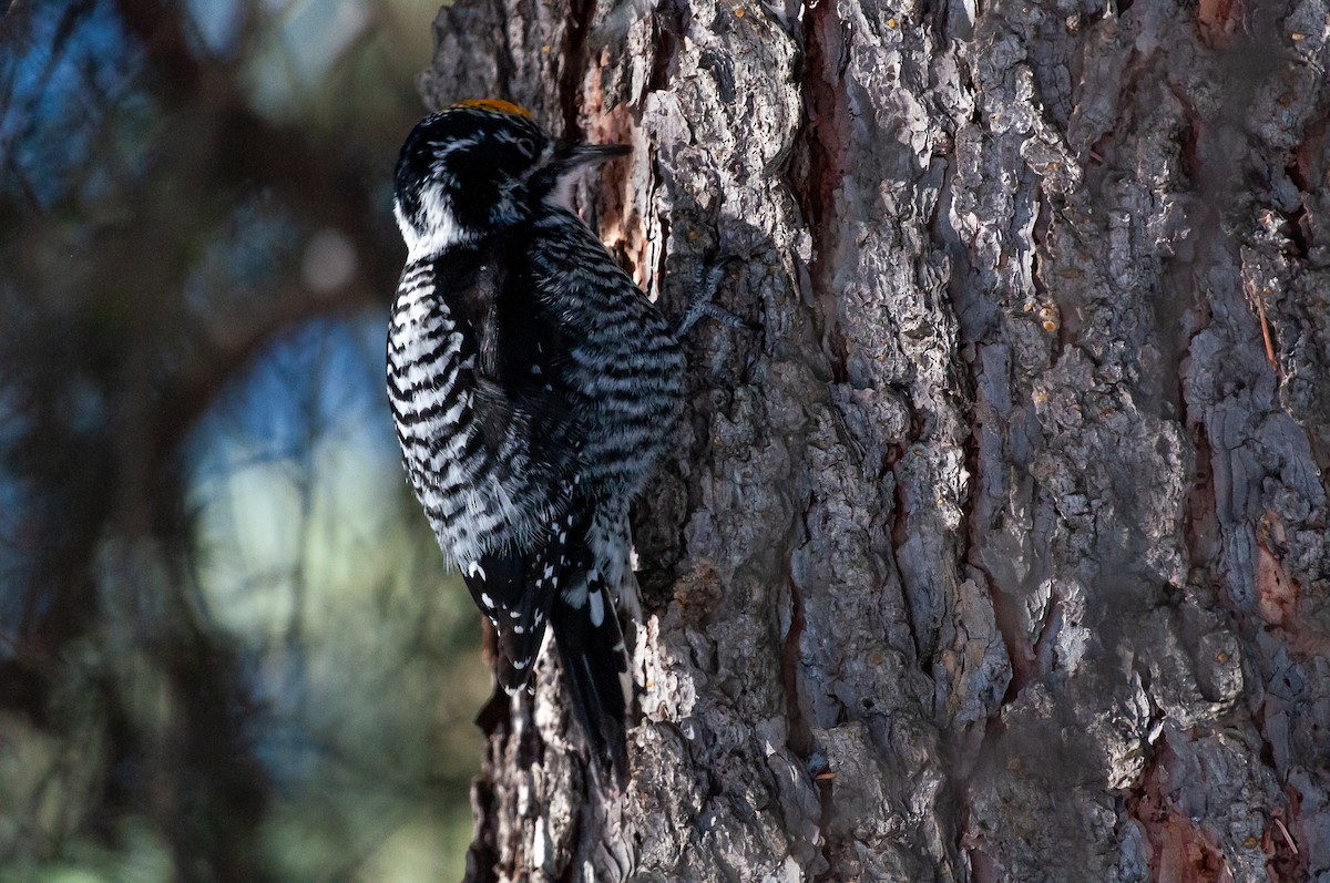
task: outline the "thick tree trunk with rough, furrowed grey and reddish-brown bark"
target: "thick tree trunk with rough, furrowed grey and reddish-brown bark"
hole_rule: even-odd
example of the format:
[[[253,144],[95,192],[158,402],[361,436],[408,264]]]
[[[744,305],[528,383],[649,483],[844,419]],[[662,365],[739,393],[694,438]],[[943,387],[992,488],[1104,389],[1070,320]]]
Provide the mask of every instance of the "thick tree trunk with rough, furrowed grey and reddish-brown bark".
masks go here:
[[[427,100],[633,144],[606,239],[759,327],[637,513],[626,795],[547,666],[471,879],[1330,874],[1327,13],[440,13]]]

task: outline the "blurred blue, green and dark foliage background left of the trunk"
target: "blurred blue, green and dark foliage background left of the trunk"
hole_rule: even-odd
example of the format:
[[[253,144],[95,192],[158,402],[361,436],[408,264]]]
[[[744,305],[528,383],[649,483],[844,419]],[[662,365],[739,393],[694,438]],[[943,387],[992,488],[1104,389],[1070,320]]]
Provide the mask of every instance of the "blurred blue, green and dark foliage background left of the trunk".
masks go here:
[[[383,394],[439,0],[0,25],[0,880],[458,879],[480,628]]]

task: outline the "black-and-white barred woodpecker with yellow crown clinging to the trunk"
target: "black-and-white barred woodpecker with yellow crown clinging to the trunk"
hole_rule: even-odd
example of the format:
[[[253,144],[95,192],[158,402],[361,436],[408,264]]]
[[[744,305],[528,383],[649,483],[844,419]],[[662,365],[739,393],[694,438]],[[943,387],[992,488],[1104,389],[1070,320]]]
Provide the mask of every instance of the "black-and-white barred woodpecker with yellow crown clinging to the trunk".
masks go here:
[[[572,206],[628,150],[552,138],[496,100],[407,137],[394,211],[408,257],[387,386],[411,485],[524,688],[547,625],[593,753],[626,769],[636,605],[628,509],[670,448],[684,356],[656,306]]]

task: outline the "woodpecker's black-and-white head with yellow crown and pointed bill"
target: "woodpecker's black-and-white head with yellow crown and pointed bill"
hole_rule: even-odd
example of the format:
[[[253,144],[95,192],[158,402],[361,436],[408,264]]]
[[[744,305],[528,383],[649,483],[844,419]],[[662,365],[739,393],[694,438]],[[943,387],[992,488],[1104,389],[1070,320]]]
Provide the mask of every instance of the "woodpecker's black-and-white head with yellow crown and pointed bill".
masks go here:
[[[402,145],[392,207],[411,259],[571,207],[576,174],[628,153],[552,138],[515,104],[463,101],[422,120]]]

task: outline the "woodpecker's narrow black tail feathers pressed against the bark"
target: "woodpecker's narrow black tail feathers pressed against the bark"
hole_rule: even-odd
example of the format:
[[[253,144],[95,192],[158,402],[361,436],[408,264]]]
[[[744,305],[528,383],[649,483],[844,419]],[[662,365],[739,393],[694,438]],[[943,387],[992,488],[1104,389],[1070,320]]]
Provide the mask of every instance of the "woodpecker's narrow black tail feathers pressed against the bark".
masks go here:
[[[583,602],[576,604],[577,600]],[[555,600],[549,624],[559,646],[560,668],[596,763],[601,771],[613,774],[622,787],[628,779],[625,719],[632,681],[613,598],[604,582],[593,576],[584,598],[560,596]]]

